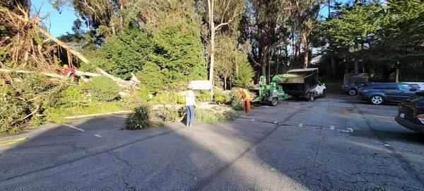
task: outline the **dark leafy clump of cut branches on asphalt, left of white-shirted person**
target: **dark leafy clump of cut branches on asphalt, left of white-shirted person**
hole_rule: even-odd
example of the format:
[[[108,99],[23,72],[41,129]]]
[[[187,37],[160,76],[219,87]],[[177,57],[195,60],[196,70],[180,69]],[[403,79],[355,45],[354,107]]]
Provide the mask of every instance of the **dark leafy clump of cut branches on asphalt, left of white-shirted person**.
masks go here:
[[[138,130],[151,127],[153,124],[150,121],[151,109],[148,105],[140,105],[134,109],[134,112],[126,117],[122,129]]]

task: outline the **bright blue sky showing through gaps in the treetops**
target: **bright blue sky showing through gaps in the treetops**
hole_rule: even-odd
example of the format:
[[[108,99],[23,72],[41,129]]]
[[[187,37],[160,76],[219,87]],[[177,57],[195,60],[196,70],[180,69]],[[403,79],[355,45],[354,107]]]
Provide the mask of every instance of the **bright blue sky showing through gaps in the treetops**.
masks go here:
[[[339,2],[350,2],[352,0],[338,0]],[[49,28],[49,32],[58,37],[59,35],[63,35],[66,32],[71,33],[73,21],[78,18],[76,16],[73,8],[66,7],[61,13],[54,9],[51,4],[47,0],[31,0],[34,10],[41,10],[41,16],[49,15],[49,18],[45,19],[45,24],[47,28]],[[326,6],[326,4],[324,4]],[[320,14],[326,18],[328,14],[328,8],[323,7],[320,11]]]

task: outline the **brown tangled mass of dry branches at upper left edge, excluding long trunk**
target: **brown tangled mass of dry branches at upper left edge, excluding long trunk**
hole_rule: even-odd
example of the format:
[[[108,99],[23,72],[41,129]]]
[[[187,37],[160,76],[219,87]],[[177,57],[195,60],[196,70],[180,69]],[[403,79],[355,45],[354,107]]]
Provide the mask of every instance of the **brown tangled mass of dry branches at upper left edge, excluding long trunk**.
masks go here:
[[[36,69],[55,71],[52,52],[57,45],[47,43],[45,36],[40,36],[40,22],[37,15],[30,18],[29,9],[17,6],[15,11],[0,6],[0,20],[9,31],[1,37],[1,68]]]

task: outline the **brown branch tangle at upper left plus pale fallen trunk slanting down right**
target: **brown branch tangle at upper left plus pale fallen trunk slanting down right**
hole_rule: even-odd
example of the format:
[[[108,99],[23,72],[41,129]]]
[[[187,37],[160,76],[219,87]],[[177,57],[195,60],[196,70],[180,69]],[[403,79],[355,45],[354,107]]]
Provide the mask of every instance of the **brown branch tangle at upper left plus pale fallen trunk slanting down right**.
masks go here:
[[[42,73],[46,76],[65,79],[64,76],[58,75],[60,68],[58,64],[55,64],[58,59],[55,54],[59,54],[59,49],[65,50],[70,66],[72,66],[74,58],[90,64],[90,61],[80,52],[73,50],[69,45],[40,27],[40,17],[37,14],[30,17],[29,12],[29,8],[21,6],[17,6],[16,11],[0,6],[1,24],[5,25],[8,30],[12,30],[11,33],[8,33],[9,35],[0,36],[0,72],[33,73],[34,71],[43,71]],[[125,81],[98,67],[95,69],[98,73],[77,70],[76,75],[107,76],[124,90],[130,91],[140,83],[134,74],[131,80]]]

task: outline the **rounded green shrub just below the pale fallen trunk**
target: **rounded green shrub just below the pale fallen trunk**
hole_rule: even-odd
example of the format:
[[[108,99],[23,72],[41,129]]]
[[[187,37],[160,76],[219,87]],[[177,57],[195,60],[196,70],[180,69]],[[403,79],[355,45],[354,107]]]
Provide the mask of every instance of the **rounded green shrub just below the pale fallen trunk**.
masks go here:
[[[93,100],[112,101],[119,93],[119,86],[106,76],[93,77],[83,84],[84,89],[90,93]]]

